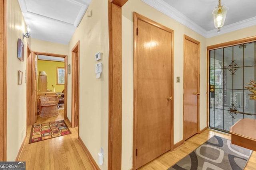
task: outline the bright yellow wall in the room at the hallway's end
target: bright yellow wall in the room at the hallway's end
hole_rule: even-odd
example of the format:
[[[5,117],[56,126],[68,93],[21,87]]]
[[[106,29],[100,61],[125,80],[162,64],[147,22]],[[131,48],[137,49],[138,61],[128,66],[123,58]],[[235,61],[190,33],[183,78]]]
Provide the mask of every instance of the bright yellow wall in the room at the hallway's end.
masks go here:
[[[55,87],[55,92],[62,92],[64,85],[57,85],[57,67],[65,67],[64,62],[58,61],[37,61],[37,75],[39,76],[40,71],[45,71],[47,74],[47,89],[54,90],[52,85]]]

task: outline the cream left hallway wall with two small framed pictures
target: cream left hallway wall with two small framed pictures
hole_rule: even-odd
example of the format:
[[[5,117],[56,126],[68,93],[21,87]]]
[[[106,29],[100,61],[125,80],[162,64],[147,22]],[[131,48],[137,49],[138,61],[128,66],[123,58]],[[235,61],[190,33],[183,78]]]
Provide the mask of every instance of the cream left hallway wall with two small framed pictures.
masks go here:
[[[15,161],[26,135],[26,82],[27,43],[22,38],[26,23],[18,0],[7,1],[7,161]],[[17,58],[17,41],[24,43],[24,61]],[[22,85],[18,85],[18,70],[23,72]]]

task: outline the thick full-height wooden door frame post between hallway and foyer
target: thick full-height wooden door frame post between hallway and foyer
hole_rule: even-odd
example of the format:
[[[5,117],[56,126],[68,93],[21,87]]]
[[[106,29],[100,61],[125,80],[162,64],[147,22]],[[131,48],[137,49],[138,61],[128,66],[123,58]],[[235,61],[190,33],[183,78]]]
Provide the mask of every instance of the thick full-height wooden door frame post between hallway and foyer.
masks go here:
[[[108,170],[122,167],[122,6],[108,0]]]

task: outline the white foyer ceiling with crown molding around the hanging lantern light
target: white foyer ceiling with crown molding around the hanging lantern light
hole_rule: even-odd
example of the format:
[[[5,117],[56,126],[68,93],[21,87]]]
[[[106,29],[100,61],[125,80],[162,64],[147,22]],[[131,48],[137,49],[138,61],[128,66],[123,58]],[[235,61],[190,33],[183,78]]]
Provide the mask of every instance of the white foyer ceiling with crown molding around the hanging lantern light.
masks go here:
[[[256,25],[256,0],[221,0],[229,10],[220,33],[212,17],[218,0],[142,1],[207,38]]]

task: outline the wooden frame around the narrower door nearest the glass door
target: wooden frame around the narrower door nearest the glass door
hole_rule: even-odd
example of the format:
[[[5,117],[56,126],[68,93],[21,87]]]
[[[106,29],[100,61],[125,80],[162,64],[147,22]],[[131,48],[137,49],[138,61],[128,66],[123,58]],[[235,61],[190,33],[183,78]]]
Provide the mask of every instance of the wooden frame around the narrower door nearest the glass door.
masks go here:
[[[185,57],[185,40],[191,41],[195,44],[198,45],[198,78],[197,78],[197,92],[200,93],[200,42],[196,41],[195,39],[189,37],[188,35],[184,35],[184,40],[183,40],[183,57]],[[184,60],[183,60],[184,61]],[[184,63],[183,63],[183,69],[184,69]],[[183,72],[183,77],[184,77],[184,72]],[[183,101],[184,101],[184,82],[183,82]],[[183,143],[185,141],[184,139],[184,102],[183,102]],[[200,96],[197,97],[197,133],[200,133]]]

